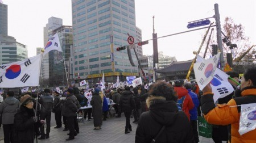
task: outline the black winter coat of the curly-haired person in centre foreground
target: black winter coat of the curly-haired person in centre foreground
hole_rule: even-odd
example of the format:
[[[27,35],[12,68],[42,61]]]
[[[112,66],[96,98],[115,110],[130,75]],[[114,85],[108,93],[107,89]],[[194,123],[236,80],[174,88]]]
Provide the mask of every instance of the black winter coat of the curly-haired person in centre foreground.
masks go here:
[[[143,112],[135,135],[135,142],[151,142],[163,125],[166,126],[156,142],[194,142],[189,120],[184,112],[177,111],[176,102],[162,96],[150,96],[149,111]]]

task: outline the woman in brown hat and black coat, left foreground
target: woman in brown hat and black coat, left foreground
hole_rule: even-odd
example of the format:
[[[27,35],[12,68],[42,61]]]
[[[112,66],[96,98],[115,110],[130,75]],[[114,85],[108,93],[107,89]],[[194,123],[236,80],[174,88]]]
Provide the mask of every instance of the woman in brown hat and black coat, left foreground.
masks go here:
[[[20,98],[20,107],[14,116],[14,142],[32,143],[35,139],[35,128],[41,127],[45,121],[35,116],[33,98],[26,94]]]

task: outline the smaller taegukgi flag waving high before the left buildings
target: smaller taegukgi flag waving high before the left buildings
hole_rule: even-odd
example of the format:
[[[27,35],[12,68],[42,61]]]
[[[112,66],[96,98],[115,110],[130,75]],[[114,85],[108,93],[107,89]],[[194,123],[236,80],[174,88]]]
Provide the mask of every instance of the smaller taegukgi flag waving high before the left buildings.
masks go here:
[[[46,47],[44,47],[43,56],[52,50],[57,50],[59,52],[62,52],[58,33],[56,33],[49,39],[48,43],[46,44]]]

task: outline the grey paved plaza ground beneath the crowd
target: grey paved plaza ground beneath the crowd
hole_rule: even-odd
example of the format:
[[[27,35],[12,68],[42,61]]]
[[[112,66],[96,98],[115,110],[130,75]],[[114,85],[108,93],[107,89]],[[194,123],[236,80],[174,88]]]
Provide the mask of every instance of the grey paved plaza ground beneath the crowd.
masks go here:
[[[54,114],[52,113],[52,123],[55,122]],[[68,138],[68,131],[64,132],[63,128],[55,129],[55,124],[51,124],[51,132],[49,138],[46,140],[38,140],[42,143],[50,142],[134,142],[135,141],[135,131],[137,124],[133,124],[133,118],[131,118],[131,125],[133,131],[125,134],[125,116],[122,114],[121,118],[110,117],[106,121],[103,121],[101,130],[93,130],[93,120],[85,120],[84,123],[79,123],[80,133],[75,137],[75,140],[65,141]],[[3,128],[0,128],[0,143],[3,142]],[[35,140],[36,142],[36,140]],[[212,138],[200,137],[200,142],[208,143],[213,142]]]

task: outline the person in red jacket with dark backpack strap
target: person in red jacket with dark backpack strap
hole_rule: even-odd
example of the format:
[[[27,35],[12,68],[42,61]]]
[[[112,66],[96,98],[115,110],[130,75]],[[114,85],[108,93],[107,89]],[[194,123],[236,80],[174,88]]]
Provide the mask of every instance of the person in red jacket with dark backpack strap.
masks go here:
[[[188,120],[190,121],[189,110],[194,108],[194,103],[192,101],[191,96],[188,94],[188,90],[184,88],[184,81],[183,79],[176,79],[174,82],[174,90],[177,92],[178,99],[185,96],[185,99],[182,104],[182,111],[187,115]]]

